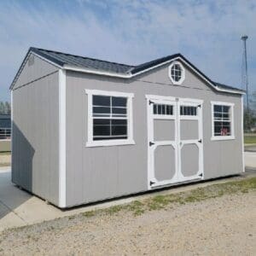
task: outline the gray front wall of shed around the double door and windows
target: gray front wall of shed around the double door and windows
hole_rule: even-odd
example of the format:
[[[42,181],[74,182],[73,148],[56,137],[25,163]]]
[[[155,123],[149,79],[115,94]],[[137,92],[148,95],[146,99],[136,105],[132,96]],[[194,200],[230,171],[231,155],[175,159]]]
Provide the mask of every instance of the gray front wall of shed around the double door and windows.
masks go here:
[[[129,80],[67,72],[67,207],[148,189],[146,95],[203,100],[204,178],[242,172],[241,96],[217,93],[185,68],[182,85],[171,83],[167,65]],[[134,93],[134,145],[86,148],[85,89]],[[211,141],[211,101],[235,103],[235,140]]]

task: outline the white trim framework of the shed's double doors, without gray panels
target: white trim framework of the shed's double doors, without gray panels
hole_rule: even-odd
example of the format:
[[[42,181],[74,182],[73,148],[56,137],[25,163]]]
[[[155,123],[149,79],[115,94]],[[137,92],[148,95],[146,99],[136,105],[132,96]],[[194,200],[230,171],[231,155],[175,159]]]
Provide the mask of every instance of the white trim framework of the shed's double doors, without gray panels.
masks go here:
[[[202,100],[199,99],[190,99],[190,98],[176,98],[172,96],[155,96],[155,95],[146,95],[147,99],[147,119],[148,119],[148,189],[153,189],[154,187],[159,187],[171,183],[180,183],[185,182],[193,179],[203,179],[204,172],[203,172],[203,133],[202,133]],[[154,103],[162,103],[162,104],[172,104],[175,102],[173,111],[175,114],[172,117],[165,117],[159,116],[159,119],[174,119],[175,120],[175,141],[162,141],[162,142],[154,142],[154,145],[149,146],[149,143],[154,140],[154,119],[158,119],[158,116],[153,114],[153,108],[150,107],[150,102]],[[180,116],[180,105],[195,105],[198,109],[197,116]],[[198,106],[201,107],[198,107]],[[195,176],[184,177],[181,172],[181,148],[182,146],[179,145],[181,142],[180,138],[180,120],[181,119],[195,119],[198,120],[198,129],[199,129],[199,138],[201,138],[201,143],[198,140],[186,140],[183,141],[184,144],[193,143],[196,144],[199,148],[199,171]],[[200,140],[200,139],[199,139]],[[197,142],[196,142],[197,141]],[[165,180],[165,181],[157,181],[154,177],[154,150],[159,145],[172,145],[175,148],[175,169],[176,173],[172,177],[172,180]],[[201,177],[199,176],[201,174]],[[154,184],[150,184],[150,182],[155,182]]]

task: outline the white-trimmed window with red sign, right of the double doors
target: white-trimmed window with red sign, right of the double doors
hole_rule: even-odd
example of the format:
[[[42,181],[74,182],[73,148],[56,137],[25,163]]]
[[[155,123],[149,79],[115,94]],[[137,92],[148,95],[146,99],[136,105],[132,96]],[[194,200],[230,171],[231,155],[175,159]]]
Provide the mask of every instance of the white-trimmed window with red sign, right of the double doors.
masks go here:
[[[212,102],[213,138],[234,138],[233,107],[231,103]]]

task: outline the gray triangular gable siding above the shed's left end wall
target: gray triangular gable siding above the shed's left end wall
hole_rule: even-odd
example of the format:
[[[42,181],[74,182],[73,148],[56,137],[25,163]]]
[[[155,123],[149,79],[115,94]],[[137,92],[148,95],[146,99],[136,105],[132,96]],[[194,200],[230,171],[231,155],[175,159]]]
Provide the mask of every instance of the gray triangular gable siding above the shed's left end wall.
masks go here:
[[[49,73],[54,73],[58,70],[58,67],[40,59],[37,55],[33,55],[33,58],[32,65],[29,65],[28,61],[26,61],[19,78],[15,83],[14,89],[24,84],[32,83],[32,81],[40,79]]]

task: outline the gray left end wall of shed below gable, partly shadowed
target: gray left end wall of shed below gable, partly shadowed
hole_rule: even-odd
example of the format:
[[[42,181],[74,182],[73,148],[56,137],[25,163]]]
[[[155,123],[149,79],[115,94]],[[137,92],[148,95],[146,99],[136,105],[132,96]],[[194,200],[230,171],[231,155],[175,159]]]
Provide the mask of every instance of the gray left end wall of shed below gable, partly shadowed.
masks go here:
[[[58,83],[55,72],[13,91],[12,181],[55,204],[59,195]]]

